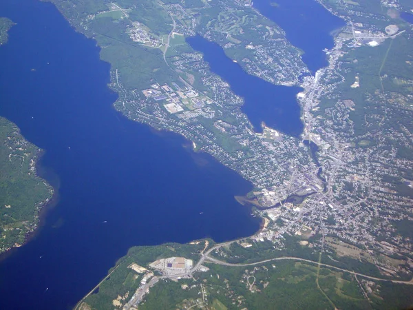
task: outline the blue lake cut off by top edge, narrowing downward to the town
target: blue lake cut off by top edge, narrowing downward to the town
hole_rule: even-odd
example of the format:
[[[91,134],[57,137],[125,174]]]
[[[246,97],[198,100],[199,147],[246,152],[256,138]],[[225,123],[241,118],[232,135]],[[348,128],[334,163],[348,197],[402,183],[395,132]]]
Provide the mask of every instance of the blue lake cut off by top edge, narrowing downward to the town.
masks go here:
[[[325,48],[332,48],[334,30],[345,21],[315,0],[254,0],[253,7],[279,25],[291,44],[300,48],[302,59],[313,73],[328,65]]]

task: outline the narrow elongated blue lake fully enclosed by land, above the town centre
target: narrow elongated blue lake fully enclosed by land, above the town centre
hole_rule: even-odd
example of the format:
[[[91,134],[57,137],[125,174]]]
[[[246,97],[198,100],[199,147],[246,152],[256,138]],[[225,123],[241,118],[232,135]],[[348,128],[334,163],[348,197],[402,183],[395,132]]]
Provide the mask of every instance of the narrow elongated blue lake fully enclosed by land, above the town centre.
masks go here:
[[[204,54],[204,61],[209,63],[211,72],[218,74],[229,83],[235,94],[244,98],[242,112],[248,116],[256,132],[262,132],[261,123],[264,122],[290,136],[301,134],[303,124],[296,99],[301,88],[273,85],[247,74],[238,63],[226,56],[220,45],[200,35],[187,38],[187,42],[194,50]]]

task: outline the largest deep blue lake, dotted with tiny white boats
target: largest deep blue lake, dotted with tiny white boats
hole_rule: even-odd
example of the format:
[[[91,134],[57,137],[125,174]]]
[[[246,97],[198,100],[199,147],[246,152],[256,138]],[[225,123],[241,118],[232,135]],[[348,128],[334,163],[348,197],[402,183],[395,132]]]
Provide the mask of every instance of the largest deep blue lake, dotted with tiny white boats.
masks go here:
[[[234,199],[251,183],[113,109],[109,64],[52,4],[3,0],[0,12],[17,23],[0,47],[0,115],[60,183],[36,237],[0,262],[0,309],[73,307],[135,245],[259,229]]]

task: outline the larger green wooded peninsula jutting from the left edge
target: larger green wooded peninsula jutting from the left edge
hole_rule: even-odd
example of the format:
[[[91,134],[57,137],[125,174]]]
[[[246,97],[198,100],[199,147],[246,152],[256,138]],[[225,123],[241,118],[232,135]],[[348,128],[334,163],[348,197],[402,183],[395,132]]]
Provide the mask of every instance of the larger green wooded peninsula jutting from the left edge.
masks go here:
[[[19,128],[0,117],[0,253],[19,247],[36,229],[39,210],[52,197],[52,187],[36,176],[41,151]]]

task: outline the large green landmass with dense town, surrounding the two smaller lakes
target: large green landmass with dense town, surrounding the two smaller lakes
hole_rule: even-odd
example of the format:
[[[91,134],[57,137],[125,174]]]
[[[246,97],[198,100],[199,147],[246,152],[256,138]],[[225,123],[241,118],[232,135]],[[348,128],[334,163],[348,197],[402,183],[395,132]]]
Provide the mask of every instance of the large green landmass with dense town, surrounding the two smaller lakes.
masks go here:
[[[410,1],[318,0],[346,26],[315,74],[251,1],[50,1],[100,45],[116,109],[250,180],[238,199],[263,219],[242,240],[134,247],[76,309],[413,304],[413,28],[398,13]],[[253,127],[195,34],[248,74],[301,87],[303,133]]]

